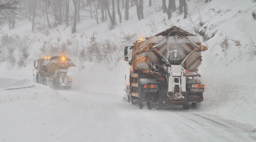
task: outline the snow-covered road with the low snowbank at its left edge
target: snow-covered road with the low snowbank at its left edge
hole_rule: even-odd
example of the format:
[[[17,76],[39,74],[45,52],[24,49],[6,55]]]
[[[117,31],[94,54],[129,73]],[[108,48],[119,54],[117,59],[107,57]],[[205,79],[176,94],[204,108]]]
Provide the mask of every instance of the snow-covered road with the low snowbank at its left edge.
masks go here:
[[[256,141],[251,126],[202,109],[139,109],[121,96],[43,85],[1,91],[5,142]]]

